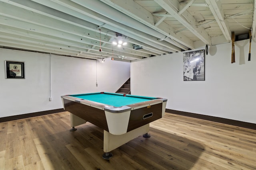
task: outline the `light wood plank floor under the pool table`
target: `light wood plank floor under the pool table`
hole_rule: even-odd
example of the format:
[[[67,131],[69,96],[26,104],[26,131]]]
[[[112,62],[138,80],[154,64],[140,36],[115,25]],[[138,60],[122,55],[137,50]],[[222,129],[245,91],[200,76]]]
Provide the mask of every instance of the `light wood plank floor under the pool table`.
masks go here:
[[[103,131],[62,112],[0,123],[0,170],[254,170],[256,131],[166,113],[102,159]]]

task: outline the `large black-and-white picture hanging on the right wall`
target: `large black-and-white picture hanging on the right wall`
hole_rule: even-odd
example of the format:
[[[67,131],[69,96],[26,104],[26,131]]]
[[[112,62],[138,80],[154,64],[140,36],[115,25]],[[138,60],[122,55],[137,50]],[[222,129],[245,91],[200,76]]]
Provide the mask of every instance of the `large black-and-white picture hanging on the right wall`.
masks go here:
[[[204,80],[204,50],[183,53],[183,80]]]

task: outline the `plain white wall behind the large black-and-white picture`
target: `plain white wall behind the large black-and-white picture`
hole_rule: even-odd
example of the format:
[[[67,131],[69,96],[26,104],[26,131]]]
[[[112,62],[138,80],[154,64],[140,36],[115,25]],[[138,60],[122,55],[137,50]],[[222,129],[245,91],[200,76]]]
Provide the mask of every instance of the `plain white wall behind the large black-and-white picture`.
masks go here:
[[[131,64],[131,92],[167,98],[167,109],[256,123],[256,39],[212,46],[205,57],[205,81],[183,81],[183,52]],[[187,51],[186,51],[187,52]]]

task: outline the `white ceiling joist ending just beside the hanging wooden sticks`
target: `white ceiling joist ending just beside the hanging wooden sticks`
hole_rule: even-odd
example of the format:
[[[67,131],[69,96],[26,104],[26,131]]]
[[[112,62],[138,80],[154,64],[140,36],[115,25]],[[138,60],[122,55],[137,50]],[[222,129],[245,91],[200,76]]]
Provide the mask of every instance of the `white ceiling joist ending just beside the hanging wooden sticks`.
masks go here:
[[[231,31],[228,25],[228,21],[224,18],[224,12],[223,9],[221,8],[221,2],[216,2],[215,0],[205,0],[205,2],[208,4],[227,42],[230,43],[232,41]]]

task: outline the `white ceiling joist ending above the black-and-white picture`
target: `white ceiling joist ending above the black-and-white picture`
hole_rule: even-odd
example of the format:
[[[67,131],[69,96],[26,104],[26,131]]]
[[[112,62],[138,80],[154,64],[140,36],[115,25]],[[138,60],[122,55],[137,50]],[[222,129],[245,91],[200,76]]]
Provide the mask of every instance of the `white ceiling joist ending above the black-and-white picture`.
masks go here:
[[[182,9],[182,6],[177,0],[154,0],[158,3],[166,12],[171,14],[176,20],[178,20],[182,25],[188,28],[194,35],[196,35],[201,41],[207,45],[211,45],[211,37],[202,27],[196,27],[198,23],[195,18],[187,11],[184,11],[180,16],[178,14],[179,9]]]

